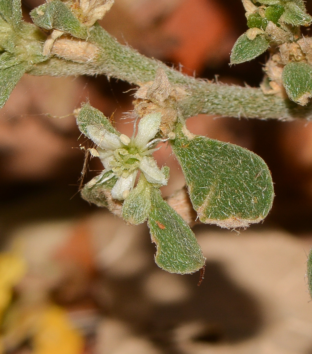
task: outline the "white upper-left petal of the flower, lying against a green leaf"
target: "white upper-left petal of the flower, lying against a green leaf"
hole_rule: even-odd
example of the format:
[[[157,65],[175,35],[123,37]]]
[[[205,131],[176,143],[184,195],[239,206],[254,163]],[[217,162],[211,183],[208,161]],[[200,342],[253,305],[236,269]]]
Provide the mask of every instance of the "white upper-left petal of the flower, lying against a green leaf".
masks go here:
[[[118,135],[109,132],[103,127],[88,125],[86,129],[88,136],[104,150],[116,150],[124,146]]]

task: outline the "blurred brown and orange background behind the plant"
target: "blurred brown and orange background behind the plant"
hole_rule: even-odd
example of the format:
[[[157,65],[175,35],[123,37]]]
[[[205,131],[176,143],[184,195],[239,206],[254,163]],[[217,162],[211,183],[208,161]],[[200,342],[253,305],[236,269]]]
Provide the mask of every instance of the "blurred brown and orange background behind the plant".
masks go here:
[[[29,11],[42,3],[22,1],[27,21]],[[311,1],[307,7],[312,13]],[[261,81],[266,54],[229,66],[231,48],[247,29],[240,0],[115,0],[101,25],[121,43],[187,74],[253,87]],[[106,116],[114,113],[117,129],[129,135],[132,125],[121,118],[132,109],[131,88],[104,76],[24,75],[1,110],[2,245],[24,240],[23,254],[33,262],[29,274],[47,267],[38,254],[61,269],[51,282],[39,272],[36,285],[28,274],[19,293],[44,289],[50,300],[64,306],[86,338],[85,353],[251,353],[252,348],[258,348],[253,353],[312,353],[311,304],[306,308],[304,284],[304,252],[312,244],[311,123],[205,115],[188,120],[193,133],[259,154],[272,172],[276,194],[270,215],[239,241],[230,231],[197,226],[208,258],[206,278],[197,288],[197,275],[157,269],[144,225],[126,227],[79,196],[85,157],[80,144],[87,148],[92,143],[80,135],[71,113],[89,101]],[[163,190],[169,195],[182,187],[183,176],[169,148],[159,150],[157,159],[171,167]],[[98,159],[89,160],[84,181],[101,168]],[[272,259],[276,263],[269,267]],[[289,307],[293,313],[288,316]],[[120,344],[121,338],[126,342]],[[22,344],[14,350],[31,352],[29,343]]]

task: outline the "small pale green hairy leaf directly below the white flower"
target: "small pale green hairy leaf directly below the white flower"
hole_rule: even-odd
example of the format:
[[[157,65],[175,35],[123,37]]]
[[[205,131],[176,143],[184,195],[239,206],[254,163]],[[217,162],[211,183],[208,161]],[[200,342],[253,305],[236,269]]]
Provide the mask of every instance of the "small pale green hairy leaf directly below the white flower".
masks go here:
[[[146,181],[143,173],[137,186],[130,192],[122,205],[122,218],[133,225],[143,223],[151,210],[152,185]]]

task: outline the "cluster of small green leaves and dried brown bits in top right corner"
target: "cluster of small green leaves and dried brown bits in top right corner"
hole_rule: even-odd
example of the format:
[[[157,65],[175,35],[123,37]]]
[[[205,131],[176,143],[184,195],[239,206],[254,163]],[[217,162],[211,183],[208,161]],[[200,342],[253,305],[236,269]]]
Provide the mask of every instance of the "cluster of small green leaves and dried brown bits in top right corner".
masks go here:
[[[291,101],[306,105],[312,97],[312,41],[301,35],[300,26],[310,25],[312,17],[304,1],[242,1],[249,29],[235,42],[231,64],[252,60],[270,47],[271,59],[265,68],[269,90],[264,92],[285,92]]]

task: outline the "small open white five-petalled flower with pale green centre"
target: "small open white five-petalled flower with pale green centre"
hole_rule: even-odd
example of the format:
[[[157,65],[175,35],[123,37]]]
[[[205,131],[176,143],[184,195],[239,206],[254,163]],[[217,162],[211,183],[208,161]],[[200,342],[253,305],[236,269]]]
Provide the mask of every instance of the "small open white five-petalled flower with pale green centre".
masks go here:
[[[131,138],[124,134],[112,133],[105,127],[88,125],[87,134],[98,145],[96,155],[102,161],[104,170],[87,183],[86,187],[91,188],[96,183],[106,182],[116,176],[117,182],[111,189],[111,195],[114,199],[124,200],[133,189],[139,170],[148,182],[166,185],[166,176],[151,156],[157,150],[154,148],[155,143],[163,141],[162,139],[153,140],[159,131],[160,122],[160,113],[145,115],[139,121],[137,135],[134,136],[133,133]],[[103,175],[109,171],[111,173],[102,179]]]

